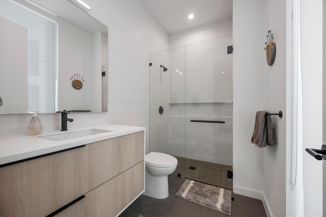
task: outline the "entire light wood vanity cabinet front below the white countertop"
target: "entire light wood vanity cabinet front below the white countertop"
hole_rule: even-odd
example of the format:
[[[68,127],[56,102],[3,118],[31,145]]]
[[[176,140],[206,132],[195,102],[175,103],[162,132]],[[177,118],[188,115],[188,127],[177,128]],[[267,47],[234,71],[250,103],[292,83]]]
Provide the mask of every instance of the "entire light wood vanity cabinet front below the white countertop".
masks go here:
[[[115,216],[144,190],[144,131],[0,168],[0,216]],[[102,215],[101,213],[106,213]]]

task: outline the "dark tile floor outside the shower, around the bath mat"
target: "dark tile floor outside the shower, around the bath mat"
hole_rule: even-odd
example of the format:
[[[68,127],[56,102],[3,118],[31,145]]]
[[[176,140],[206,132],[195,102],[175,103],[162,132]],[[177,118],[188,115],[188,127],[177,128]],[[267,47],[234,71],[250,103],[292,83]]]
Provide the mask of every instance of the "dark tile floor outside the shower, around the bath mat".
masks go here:
[[[179,191],[184,178],[169,176],[169,197],[154,199],[141,195],[119,217],[227,217],[230,215],[201,206],[175,194]],[[267,217],[262,201],[233,194],[231,216]]]

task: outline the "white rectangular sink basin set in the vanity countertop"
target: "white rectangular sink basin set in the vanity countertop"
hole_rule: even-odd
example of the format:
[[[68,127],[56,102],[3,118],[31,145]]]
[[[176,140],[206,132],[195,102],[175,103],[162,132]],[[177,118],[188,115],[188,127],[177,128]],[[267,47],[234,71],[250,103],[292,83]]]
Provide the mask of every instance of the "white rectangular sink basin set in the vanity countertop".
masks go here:
[[[111,131],[91,129],[91,130],[67,132],[67,133],[61,133],[61,134],[55,134],[55,135],[49,135],[49,136],[40,136],[40,138],[51,140],[51,141],[62,141],[62,140],[66,140],[66,139],[74,139],[74,138],[91,136],[91,135],[107,133],[107,132],[111,132]]]

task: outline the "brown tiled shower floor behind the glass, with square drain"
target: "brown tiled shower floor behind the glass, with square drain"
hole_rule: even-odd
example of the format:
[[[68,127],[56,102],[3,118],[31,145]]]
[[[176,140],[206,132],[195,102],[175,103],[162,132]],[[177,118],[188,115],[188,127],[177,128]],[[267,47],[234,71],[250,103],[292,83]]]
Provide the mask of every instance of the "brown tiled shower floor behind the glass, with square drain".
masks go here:
[[[183,178],[201,181],[225,189],[233,189],[233,179],[228,178],[228,170],[233,171],[232,166],[176,156],[175,158],[178,159],[178,166],[172,175],[177,176],[180,174]],[[192,170],[189,167],[195,167],[196,169]]]

